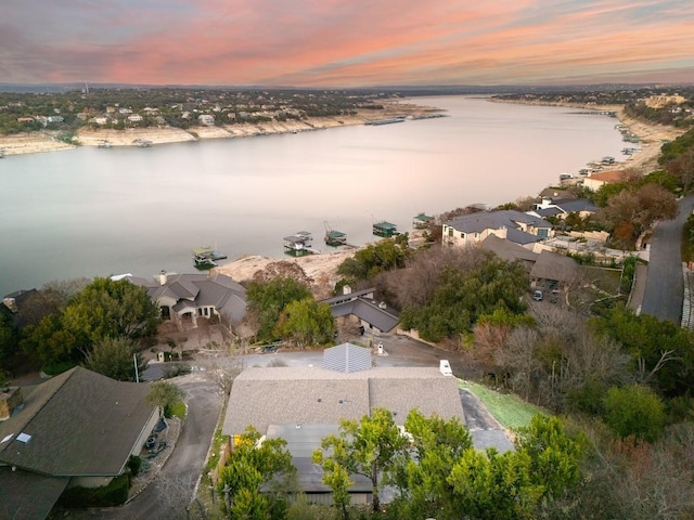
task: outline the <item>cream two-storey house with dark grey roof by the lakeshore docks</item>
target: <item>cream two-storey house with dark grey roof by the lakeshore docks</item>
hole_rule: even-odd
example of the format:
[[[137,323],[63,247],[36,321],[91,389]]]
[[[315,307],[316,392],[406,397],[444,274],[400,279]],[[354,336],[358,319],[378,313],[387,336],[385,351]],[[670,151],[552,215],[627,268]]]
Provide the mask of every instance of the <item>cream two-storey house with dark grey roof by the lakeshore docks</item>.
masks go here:
[[[553,234],[552,224],[534,214],[516,210],[480,211],[445,222],[442,243],[452,246],[477,245],[489,235],[496,235],[532,249],[534,244]]]

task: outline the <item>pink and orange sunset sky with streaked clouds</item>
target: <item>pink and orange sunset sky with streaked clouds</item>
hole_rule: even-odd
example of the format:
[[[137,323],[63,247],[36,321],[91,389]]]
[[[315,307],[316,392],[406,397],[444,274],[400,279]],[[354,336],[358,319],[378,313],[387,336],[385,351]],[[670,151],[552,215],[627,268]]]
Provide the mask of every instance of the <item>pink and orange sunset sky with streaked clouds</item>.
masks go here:
[[[691,0],[9,0],[0,82],[694,82]]]

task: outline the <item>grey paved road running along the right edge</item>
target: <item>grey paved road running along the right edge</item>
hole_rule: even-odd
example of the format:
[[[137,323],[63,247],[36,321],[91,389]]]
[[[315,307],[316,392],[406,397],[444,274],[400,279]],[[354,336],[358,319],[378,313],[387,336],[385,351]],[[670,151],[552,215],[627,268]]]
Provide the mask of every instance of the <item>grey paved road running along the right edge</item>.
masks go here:
[[[641,312],[670,320],[677,325],[682,322],[682,299],[684,283],[680,244],[682,226],[692,214],[694,196],[683,198],[679,204],[677,219],[659,222],[653,231],[651,260],[646,277]]]

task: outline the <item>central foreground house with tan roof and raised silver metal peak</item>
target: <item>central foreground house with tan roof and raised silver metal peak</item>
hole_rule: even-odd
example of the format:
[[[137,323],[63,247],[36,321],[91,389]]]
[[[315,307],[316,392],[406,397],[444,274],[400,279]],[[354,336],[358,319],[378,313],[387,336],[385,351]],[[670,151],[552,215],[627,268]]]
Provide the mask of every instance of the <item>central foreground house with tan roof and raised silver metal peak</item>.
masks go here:
[[[309,500],[326,504],[330,489],[311,454],[323,437],[338,432],[340,419],[360,420],[374,408],[389,410],[400,426],[414,408],[464,421],[457,380],[439,367],[373,367],[370,349],[343,343],[325,349],[321,367],[242,372],[231,388],[222,434],[233,439],[253,425],[266,437],[282,437],[303,491]],[[369,482],[350,478],[352,503],[369,503]]]

